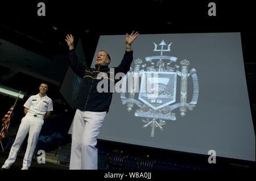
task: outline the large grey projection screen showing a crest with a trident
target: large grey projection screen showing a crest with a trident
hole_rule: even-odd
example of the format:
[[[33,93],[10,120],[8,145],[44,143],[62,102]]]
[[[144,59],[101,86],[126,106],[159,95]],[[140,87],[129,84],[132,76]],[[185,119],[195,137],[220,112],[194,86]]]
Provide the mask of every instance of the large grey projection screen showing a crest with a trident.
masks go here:
[[[139,35],[131,48],[130,71],[142,77],[157,72],[160,91],[114,92],[98,138],[255,161],[239,32]],[[118,66],[125,35],[100,36],[95,56],[99,50],[110,54],[110,68]]]

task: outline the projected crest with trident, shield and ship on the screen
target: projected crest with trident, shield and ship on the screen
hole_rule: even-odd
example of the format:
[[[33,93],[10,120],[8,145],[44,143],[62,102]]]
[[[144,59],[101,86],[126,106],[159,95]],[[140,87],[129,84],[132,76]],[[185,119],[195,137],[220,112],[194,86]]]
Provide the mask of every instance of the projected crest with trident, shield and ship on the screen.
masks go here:
[[[162,40],[154,45],[153,51],[160,55],[135,60],[134,68],[122,79],[128,82],[128,92],[121,92],[122,104],[127,105],[129,112],[134,109],[135,116],[142,117],[143,128],[151,128],[151,137],[155,136],[155,129],[163,131],[164,124],[176,120],[177,114],[184,117],[188,110],[192,111],[199,96],[196,69],[189,70],[190,62],[179,62],[177,57],[166,55],[171,52],[172,43],[167,45]],[[193,87],[190,102],[189,78]]]

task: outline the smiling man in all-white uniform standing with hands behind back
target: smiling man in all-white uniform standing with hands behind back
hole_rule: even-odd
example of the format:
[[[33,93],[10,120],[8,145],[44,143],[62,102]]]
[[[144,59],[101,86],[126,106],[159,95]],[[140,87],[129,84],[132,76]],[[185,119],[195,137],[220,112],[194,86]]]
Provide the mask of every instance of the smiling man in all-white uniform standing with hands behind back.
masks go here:
[[[10,169],[11,165],[13,165],[27,133],[27,150],[23,159],[22,170],[28,170],[30,167],[44,118],[49,117],[51,111],[53,111],[52,99],[46,95],[47,90],[48,85],[41,83],[39,94],[30,96],[24,104],[24,113],[26,116],[21,120],[15,141],[13,146],[11,146],[9,157],[6,159],[2,169]]]

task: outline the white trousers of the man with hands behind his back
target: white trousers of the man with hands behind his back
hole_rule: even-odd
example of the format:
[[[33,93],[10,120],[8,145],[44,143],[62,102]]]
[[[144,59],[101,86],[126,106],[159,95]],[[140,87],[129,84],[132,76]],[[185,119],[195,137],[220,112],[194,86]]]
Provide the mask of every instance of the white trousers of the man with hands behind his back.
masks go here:
[[[43,118],[39,117],[26,115],[22,118],[15,141],[13,146],[11,146],[9,157],[6,159],[5,163],[12,165],[15,162],[20,146],[28,133],[27,150],[23,159],[23,167],[30,167],[43,123]]]

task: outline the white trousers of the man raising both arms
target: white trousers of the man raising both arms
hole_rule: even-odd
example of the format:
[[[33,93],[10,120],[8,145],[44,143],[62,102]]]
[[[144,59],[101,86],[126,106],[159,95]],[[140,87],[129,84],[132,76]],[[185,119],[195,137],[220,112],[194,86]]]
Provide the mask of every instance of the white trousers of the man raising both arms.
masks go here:
[[[76,110],[72,127],[70,170],[98,169],[98,149],[95,146],[105,116],[106,111]]]

